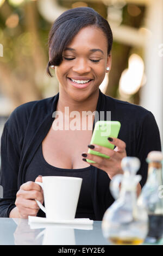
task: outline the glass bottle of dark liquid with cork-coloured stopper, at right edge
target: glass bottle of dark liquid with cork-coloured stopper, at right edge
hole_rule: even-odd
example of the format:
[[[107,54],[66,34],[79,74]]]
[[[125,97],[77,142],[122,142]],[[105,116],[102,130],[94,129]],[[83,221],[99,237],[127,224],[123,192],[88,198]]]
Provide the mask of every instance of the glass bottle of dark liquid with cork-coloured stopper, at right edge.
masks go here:
[[[163,181],[161,151],[151,151],[147,156],[148,178],[139,202],[145,205],[149,218],[149,231],[145,242],[158,243],[163,235]]]

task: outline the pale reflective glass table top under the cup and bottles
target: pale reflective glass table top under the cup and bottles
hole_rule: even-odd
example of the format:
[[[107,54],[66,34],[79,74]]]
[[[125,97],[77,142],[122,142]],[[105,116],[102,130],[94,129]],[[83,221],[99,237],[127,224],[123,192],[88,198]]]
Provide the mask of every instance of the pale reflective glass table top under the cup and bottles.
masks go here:
[[[109,245],[101,224],[94,221],[93,225],[29,225],[24,219],[0,218],[0,245]],[[163,245],[163,240],[158,245]]]

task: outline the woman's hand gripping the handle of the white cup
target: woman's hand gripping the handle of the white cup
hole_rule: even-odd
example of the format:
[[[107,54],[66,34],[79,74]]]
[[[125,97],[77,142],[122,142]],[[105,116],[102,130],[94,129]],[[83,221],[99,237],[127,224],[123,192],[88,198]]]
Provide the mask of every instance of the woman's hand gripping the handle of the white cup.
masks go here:
[[[38,176],[35,181],[42,182],[42,177]],[[33,181],[28,181],[21,185],[20,190],[16,194],[15,205],[9,217],[28,218],[28,216],[36,216],[39,211],[39,206],[36,200],[43,203],[42,188]]]

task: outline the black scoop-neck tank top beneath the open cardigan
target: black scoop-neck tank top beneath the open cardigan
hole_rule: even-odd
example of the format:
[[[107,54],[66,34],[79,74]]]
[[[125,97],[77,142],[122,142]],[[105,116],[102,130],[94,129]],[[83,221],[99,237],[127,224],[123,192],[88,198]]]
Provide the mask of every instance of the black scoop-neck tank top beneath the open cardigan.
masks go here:
[[[37,149],[32,161],[26,170],[25,182],[35,180],[37,176],[73,176],[82,178],[76,218],[95,219],[91,198],[91,166],[80,169],[63,169],[54,167],[47,163],[42,154],[42,143]],[[45,213],[40,209],[37,216],[45,217]]]

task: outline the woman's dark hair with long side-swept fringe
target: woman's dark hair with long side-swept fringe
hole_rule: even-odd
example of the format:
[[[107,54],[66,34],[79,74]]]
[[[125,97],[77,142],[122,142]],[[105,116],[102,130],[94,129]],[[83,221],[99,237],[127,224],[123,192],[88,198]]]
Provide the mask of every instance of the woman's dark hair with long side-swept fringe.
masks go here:
[[[47,65],[47,74],[52,77],[49,66],[59,66],[62,62],[62,52],[70,44],[80,29],[87,26],[101,28],[108,41],[108,54],[112,47],[112,32],[108,21],[90,7],[73,8],[62,13],[54,21],[48,36],[48,47],[51,60]]]

